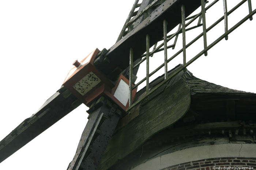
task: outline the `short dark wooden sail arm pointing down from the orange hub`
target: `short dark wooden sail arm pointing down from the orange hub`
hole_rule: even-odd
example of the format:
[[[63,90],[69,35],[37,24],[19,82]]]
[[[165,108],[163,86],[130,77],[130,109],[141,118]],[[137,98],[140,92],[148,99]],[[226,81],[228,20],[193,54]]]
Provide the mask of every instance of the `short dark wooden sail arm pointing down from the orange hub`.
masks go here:
[[[100,107],[99,111],[94,111],[91,113],[91,114],[101,114],[104,120],[99,120],[99,119],[97,120],[98,127],[96,127],[97,125],[94,128],[90,128],[86,126],[85,130],[87,131],[93,130],[95,131],[95,133],[96,131],[98,132],[95,135],[92,134],[88,143],[82,146],[82,148],[84,148],[83,155],[81,157],[79,155],[78,157],[81,161],[81,164],[80,164],[80,167],[78,166],[76,167],[76,170],[79,170],[81,168],[86,170],[97,169],[98,164],[101,160],[101,157],[105,152],[105,149],[108,146],[108,143],[113,135],[113,132],[114,132],[114,129],[116,128],[118,120],[120,119],[120,115],[117,114],[117,112],[118,110],[116,105],[113,104],[112,107],[109,107],[104,104],[103,106]],[[89,118],[89,120],[91,120],[91,117]],[[86,152],[87,148],[89,152]],[[80,147],[78,147],[78,149],[80,149]]]

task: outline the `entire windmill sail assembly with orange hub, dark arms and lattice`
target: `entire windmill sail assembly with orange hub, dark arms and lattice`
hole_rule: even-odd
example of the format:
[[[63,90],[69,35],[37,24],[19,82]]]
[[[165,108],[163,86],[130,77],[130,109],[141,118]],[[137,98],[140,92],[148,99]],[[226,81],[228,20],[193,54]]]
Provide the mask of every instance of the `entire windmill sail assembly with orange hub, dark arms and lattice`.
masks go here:
[[[143,0],[141,4],[138,4],[139,1],[135,0],[116,44],[109,50],[105,49],[99,52],[96,49],[93,57],[84,65],[79,62],[77,63],[77,68],[75,68],[76,74],[73,75],[76,77],[74,78],[75,80],[73,79],[76,82],[72,80],[73,82],[67,83],[70,85],[69,87],[61,87],[52,97],[46,100],[43,106],[33,116],[25,119],[0,142],[0,162],[33,140],[81,103],[84,103],[90,107],[88,111],[90,113],[89,121],[82,134],[74,159],[69,164],[68,170],[96,169],[110,137],[114,133],[118,120],[122,116],[128,114],[135,106],[145,102],[145,99],[147,102],[148,99],[153,98],[154,96],[152,97],[152,94],[155,91],[162,89],[166,82],[169,82],[174,76],[179,75],[179,73],[201,55],[207,55],[207,51],[219,41],[224,38],[227,40],[230,32],[234,31],[234,29],[246,20],[252,20],[252,16],[256,13],[256,10],[252,10],[251,1],[248,0],[249,14],[232,28],[228,29],[228,15],[245,3],[246,0],[242,0],[230,11],[227,11],[226,3],[224,3],[224,16],[206,28],[205,12],[218,1],[215,0],[206,6],[205,0]],[[138,7],[140,8],[136,11],[135,9]],[[199,7],[202,9],[200,13],[188,17]],[[197,18],[199,18],[199,22],[196,26],[186,28]],[[202,24],[201,20],[203,22]],[[215,27],[222,20],[225,21],[225,33],[207,46],[207,31]],[[186,21],[188,22],[186,23]],[[177,25],[179,25],[178,31],[167,36],[167,33]],[[203,27],[203,32],[190,43],[186,44],[186,31],[201,26]],[[182,33],[182,49],[167,59],[167,49],[175,47],[177,37],[180,33]],[[167,42],[174,37],[174,44],[167,46]],[[204,39],[204,49],[187,62],[186,48],[200,37]],[[156,44],[162,40],[164,42],[157,47]],[[153,46],[154,50],[149,52],[150,47]],[[146,54],[144,54],[145,51]],[[161,67],[158,67],[157,70],[149,73],[149,56],[159,51],[165,51],[165,63]],[[183,52],[183,65],[175,68],[171,74],[168,74],[167,63],[181,52]],[[137,62],[133,63],[133,61]],[[147,62],[147,76],[139,83],[134,84],[133,76],[136,73],[134,75],[132,74],[133,69],[144,61]],[[121,74],[128,67],[129,80]],[[150,89],[149,77],[162,67],[165,68],[164,80]],[[144,89],[146,92],[142,97],[137,98],[135,103],[132,103],[137,87],[143,81],[146,81],[146,89]],[[85,87],[90,87],[90,90],[84,90]],[[81,88],[86,93],[81,92]],[[114,95],[118,89],[121,89],[120,91],[124,95]],[[129,97],[127,98],[128,94]],[[116,96],[121,96],[121,99]],[[122,103],[121,100],[125,102]],[[101,149],[98,149],[99,147]]]

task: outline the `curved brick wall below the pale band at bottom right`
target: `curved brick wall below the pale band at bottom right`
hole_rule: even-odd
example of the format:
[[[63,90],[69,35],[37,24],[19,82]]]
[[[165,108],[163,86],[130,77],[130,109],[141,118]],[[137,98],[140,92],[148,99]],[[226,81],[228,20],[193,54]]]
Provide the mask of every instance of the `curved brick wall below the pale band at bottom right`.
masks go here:
[[[256,158],[210,158],[180,163],[161,170],[214,170],[214,169],[256,169]]]

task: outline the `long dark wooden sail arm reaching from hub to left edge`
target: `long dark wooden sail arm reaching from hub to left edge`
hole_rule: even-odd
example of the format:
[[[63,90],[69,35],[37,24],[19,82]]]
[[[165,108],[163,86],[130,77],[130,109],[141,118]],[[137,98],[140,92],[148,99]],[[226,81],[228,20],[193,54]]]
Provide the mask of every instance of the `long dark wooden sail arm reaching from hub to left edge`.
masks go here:
[[[60,90],[61,91],[61,90]],[[81,102],[73,95],[64,98],[61,92],[56,92],[30,118],[25,119],[1,142],[0,162],[29,143],[43,131],[79,106]]]

